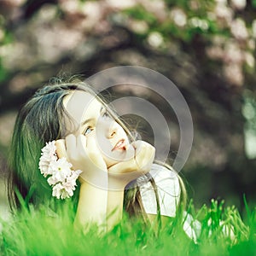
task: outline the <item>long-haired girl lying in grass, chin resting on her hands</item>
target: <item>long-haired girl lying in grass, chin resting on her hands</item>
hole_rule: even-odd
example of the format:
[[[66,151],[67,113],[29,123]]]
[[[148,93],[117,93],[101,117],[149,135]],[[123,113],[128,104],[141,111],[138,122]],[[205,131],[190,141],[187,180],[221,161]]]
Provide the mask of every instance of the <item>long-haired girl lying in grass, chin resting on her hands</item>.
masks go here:
[[[9,157],[11,207],[20,207],[19,193],[35,206],[61,201],[53,199],[55,191],[38,170],[41,148],[51,141],[57,158],[80,173],[72,197],[75,224],[111,230],[123,209],[161,223],[185,202],[182,180],[154,161],[154,147],[138,141],[88,84],[73,82],[45,86],[20,109]]]

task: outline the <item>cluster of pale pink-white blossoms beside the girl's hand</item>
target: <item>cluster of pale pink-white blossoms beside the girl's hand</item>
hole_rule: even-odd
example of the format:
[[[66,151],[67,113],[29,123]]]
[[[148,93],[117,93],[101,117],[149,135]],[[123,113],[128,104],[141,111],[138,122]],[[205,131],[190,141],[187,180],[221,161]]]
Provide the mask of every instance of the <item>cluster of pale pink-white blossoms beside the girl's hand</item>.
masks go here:
[[[48,177],[47,182],[52,187],[52,195],[58,199],[73,196],[76,180],[82,171],[73,171],[71,168],[72,164],[65,157],[58,159],[55,141],[46,143],[42,148],[39,169],[44,177]]]

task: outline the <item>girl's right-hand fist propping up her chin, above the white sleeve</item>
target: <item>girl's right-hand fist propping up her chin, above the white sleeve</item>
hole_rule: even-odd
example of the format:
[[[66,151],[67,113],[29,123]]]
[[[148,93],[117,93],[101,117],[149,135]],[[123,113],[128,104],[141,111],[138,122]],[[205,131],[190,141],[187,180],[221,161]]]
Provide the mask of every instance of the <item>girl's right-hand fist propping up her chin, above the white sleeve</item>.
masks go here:
[[[143,141],[131,143],[131,147],[135,149],[134,157],[108,168],[109,189],[124,189],[133,179],[150,171],[155,148]]]

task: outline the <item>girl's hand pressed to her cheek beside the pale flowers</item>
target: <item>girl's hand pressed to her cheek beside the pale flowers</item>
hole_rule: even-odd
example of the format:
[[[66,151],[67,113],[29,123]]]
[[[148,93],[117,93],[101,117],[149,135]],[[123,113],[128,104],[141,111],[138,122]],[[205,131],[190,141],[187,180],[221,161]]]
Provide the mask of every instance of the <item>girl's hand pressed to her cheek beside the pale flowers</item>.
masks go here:
[[[56,153],[59,158],[66,157],[73,165],[74,170],[83,171],[79,176],[79,181],[84,183],[94,183],[100,174],[107,173],[108,169],[102,159],[96,141],[93,137],[73,134],[68,135],[65,140],[57,140],[55,143]],[[99,175],[99,177],[97,177]]]

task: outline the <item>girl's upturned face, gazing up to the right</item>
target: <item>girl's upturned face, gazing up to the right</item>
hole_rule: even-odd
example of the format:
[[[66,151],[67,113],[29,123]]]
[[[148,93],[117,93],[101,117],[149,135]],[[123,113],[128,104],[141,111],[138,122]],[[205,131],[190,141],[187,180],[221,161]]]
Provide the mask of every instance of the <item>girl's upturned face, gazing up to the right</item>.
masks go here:
[[[87,138],[95,139],[108,167],[133,156],[134,148],[130,146],[124,129],[108,114],[108,109],[95,96],[74,90],[65,96],[63,104],[77,125],[75,135],[83,134]]]

